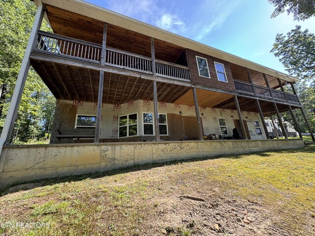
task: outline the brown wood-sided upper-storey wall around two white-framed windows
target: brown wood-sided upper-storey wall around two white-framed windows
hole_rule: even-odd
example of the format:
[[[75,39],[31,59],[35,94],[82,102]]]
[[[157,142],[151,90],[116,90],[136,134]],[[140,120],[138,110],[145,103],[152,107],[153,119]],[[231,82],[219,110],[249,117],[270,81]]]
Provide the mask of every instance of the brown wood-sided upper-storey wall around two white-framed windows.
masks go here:
[[[210,78],[199,76],[196,56],[207,59]],[[192,50],[187,50],[187,57],[191,73],[191,82],[193,84],[227,91],[236,91],[229,62]],[[214,61],[222,63],[224,65],[227,82],[221,82],[218,80]]]

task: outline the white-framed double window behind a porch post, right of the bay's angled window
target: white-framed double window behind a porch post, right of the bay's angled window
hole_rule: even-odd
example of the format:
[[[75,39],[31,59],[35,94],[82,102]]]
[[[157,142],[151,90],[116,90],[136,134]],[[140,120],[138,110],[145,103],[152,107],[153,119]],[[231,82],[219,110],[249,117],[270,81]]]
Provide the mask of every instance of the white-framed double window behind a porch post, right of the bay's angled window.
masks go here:
[[[168,135],[166,114],[158,114],[158,128],[160,135]],[[143,134],[154,135],[153,113],[143,113]]]

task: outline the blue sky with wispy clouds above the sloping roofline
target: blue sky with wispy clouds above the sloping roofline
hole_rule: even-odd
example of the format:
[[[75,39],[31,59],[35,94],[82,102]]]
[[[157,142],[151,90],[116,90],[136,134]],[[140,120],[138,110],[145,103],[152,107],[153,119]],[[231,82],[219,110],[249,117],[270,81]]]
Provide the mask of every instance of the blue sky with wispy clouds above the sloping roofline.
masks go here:
[[[286,73],[270,50],[277,33],[295,25],[315,33],[315,17],[271,19],[267,0],[88,0],[101,7],[177,33],[211,47]]]

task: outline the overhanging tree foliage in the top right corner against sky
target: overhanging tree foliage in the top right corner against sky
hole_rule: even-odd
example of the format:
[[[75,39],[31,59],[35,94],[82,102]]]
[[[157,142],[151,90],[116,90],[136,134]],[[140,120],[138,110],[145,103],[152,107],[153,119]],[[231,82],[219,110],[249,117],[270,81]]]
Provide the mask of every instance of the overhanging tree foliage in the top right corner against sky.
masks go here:
[[[314,0],[268,0],[275,6],[271,17],[276,17],[286,10],[287,14],[293,14],[294,20],[304,21],[315,16]]]

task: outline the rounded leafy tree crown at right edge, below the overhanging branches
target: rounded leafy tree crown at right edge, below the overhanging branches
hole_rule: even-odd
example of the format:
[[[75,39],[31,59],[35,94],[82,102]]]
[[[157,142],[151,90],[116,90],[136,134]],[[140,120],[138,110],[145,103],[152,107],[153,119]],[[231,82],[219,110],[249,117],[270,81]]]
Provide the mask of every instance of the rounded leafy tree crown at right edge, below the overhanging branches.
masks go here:
[[[315,35],[308,29],[296,26],[286,35],[277,34],[271,52],[290,74],[306,80],[315,77]]]

